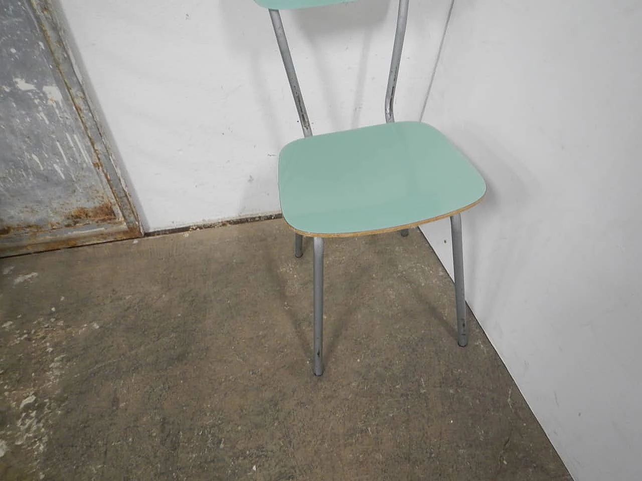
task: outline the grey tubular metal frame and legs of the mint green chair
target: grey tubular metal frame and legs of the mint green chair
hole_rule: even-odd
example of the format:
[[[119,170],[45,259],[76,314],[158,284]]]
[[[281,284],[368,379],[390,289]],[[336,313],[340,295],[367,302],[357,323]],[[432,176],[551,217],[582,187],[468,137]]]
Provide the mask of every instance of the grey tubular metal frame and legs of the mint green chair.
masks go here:
[[[399,66],[401,64],[401,53],[403,51],[404,37],[406,36],[406,24],[408,21],[408,4],[410,0],[399,0],[399,11],[397,13],[397,29],[395,31],[394,46],[392,49],[392,59],[390,60],[390,71],[388,72],[388,85],[386,87],[386,97],[384,105],[384,114],[386,123],[394,122],[394,98],[397,87],[397,78],[399,77]],[[294,62],[288,46],[288,39],[285,35],[281,13],[279,10],[268,9],[272,26],[281,52],[281,58],[288,76],[292,97],[297,107],[301,128],[304,137],[312,136],[312,128],[303,101],[303,94],[299,86],[299,79],[294,68]],[[457,316],[457,343],[464,347],[468,344],[467,321],[466,321],[466,301],[464,292],[464,252],[462,242],[462,219],[458,212],[451,215],[451,236],[453,244],[453,264],[455,267],[455,303]],[[404,237],[408,235],[408,229],[400,228],[399,231]],[[355,233],[354,235],[366,235],[368,233]],[[321,376],[324,372],[323,364],[323,291],[324,291],[324,237],[313,237],[314,262],[314,373]],[[303,236],[295,233],[295,256],[303,255]]]

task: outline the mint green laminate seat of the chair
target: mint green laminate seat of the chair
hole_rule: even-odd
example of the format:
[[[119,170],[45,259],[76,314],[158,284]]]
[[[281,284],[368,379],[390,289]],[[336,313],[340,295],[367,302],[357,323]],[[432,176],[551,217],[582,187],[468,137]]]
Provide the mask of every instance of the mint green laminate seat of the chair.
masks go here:
[[[428,222],[472,207],[485,191],[469,160],[422,122],[299,139],[279,156],[284,219],[320,237]]]

